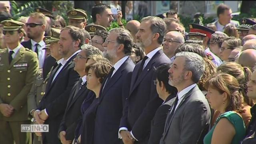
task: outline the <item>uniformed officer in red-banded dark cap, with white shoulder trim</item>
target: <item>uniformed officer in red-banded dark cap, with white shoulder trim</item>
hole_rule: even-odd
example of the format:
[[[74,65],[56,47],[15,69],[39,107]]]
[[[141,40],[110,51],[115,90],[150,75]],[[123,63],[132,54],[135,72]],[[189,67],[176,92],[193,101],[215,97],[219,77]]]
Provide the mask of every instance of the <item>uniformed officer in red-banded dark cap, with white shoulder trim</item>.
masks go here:
[[[222,64],[222,60],[214,53],[211,52],[209,45],[212,34],[215,32],[214,30],[207,28],[205,26],[201,26],[199,24],[190,23],[189,24],[190,32],[188,36],[190,39],[203,40],[203,46],[205,49],[205,54],[207,58],[212,60],[212,62],[216,66],[220,66]]]

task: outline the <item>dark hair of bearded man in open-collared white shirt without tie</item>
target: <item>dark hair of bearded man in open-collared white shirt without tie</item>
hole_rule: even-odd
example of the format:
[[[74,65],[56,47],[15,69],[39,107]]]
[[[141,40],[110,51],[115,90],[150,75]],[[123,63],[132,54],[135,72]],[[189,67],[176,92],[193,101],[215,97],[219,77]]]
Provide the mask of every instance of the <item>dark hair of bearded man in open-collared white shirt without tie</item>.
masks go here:
[[[68,30],[68,34],[70,34],[71,38],[73,40],[80,40],[79,48],[84,44],[84,32],[80,28],[77,28],[75,26],[66,26],[65,28],[62,28],[61,31]]]

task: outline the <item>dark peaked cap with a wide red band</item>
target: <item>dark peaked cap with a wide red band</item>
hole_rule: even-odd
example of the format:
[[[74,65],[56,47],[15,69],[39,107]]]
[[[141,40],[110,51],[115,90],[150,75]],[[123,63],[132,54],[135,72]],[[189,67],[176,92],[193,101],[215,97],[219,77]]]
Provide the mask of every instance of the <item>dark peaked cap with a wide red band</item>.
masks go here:
[[[188,25],[190,28],[188,36],[207,36],[208,38],[211,38],[212,34],[215,32],[214,30],[199,24],[190,23]]]

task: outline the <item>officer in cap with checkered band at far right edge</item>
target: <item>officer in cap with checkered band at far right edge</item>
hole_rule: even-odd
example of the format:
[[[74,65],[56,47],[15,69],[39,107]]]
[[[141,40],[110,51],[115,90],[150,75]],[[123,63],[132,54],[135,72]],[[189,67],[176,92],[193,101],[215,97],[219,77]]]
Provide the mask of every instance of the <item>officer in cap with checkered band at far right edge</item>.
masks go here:
[[[256,22],[248,18],[241,18],[240,23],[241,25],[238,26],[236,29],[238,30],[239,38],[242,40],[242,38],[244,38],[248,34],[252,25],[256,24]]]

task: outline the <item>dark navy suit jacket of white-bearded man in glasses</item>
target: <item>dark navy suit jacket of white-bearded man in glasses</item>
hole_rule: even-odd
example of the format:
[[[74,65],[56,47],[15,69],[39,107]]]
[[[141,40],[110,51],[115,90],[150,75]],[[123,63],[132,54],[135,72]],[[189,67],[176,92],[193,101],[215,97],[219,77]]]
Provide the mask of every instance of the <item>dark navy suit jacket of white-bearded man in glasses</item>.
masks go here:
[[[120,141],[118,129],[134,66],[129,57],[107,81],[103,91],[105,82],[102,84],[96,112],[94,144],[117,144]]]

